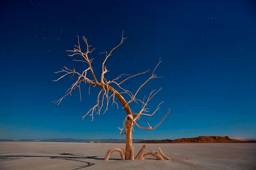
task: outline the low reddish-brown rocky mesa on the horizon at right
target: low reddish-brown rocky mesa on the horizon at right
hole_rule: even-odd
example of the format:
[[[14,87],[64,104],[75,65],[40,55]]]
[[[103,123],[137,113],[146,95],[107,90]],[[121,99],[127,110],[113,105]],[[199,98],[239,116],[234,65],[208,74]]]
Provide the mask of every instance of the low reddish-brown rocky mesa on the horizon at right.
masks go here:
[[[228,136],[199,136],[196,138],[180,138],[175,140],[144,140],[136,143],[256,143],[255,140],[235,140]]]

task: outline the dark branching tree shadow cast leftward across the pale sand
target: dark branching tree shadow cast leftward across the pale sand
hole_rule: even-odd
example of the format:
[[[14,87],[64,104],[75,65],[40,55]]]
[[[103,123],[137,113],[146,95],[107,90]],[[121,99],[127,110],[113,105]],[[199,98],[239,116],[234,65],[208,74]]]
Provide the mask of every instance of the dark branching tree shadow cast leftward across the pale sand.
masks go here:
[[[63,160],[72,160],[77,162],[84,162],[86,165],[75,167],[75,169],[72,170],[78,170],[86,167],[90,167],[92,165],[95,165],[92,162],[86,162],[83,159],[95,159],[95,160],[104,160],[104,158],[99,158],[97,156],[80,156],[73,153],[55,153],[60,154],[61,156],[36,156],[36,155],[5,155],[0,156],[0,160],[15,160],[15,159],[22,159],[24,157],[48,157],[49,159],[63,159]],[[66,156],[62,156],[66,155]],[[82,160],[81,160],[82,159]],[[110,159],[110,160],[121,160],[121,159]]]

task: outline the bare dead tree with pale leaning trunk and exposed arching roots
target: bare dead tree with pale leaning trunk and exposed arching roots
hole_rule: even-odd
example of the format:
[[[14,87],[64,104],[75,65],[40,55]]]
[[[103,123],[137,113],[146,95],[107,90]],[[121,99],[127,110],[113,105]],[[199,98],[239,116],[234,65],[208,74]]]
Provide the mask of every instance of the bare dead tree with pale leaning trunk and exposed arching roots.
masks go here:
[[[64,73],[64,75],[62,75],[60,78],[58,78],[57,80],[54,80],[54,81],[58,81],[60,79],[62,79],[63,77],[67,76],[67,75],[76,75],[78,76],[78,79],[75,81],[74,84],[72,84],[72,86],[66,91],[66,94],[59,100],[56,100],[54,101],[55,103],[57,103],[58,105],[60,104],[60,102],[62,101],[62,99],[64,99],[64,97],[68,96],[68,95],[71,95],[71,92],[73,92],[73,90],[75,90],[75,88],[77,87],[79,89],[79,93],[80,93],[80,100],[81,100],[81,91],[80,91],[80,85],[82,82],[85,82],[85,83],[89,83],[90,86],[99,86],[101,88],[99,94],[97,95],[97,101],[96,101],[96,105],[94,105],[84,116],[82,116],[82,118],[84,119],[85,116],[87,116],[88,114],[90,116],[92,116],[92,120],[93,120],[93,114],[100,114],[101,112],[101,109],[102,109],[102,106],[103,106],[103,101],[105,100],[106,101],[106,109],[105,111],[107,111],[108,109],[108,105],[109,105],[109,102],[112,103],[115,103],[118,107],[118,103],[116,102],[116,100],[119,100],[119,102],[121,102],[122,106],[123,106],[123,109],[126,111],[126,117],[125,117],[125,120],[123,121],[123,127],[122,128],[119,128],[118,129],[120,130],[120,135],[123,135],[125,134],[126,135],[126,147],[125,147],[125,159],[134,159],[134,155],[133,155],[133,147],[132,147],[132,132],[133,132],[133,126],[136,125],[139,129],[155,129],[157,126],[159,126],[159,124],[162,123],[162,121],[164,121],[165,117],[167,116],[167,114],[170,112],[170,109],[169,111],[165,114],[164,118],[162,119],[162,121],[159,122],[159,124],[157,124],[155,127],[151,127],[150,124],[147,122],[148,124],[148,127],[141,127],[137,124],[137,120],[139,118],[139,116],[141,115],[146,115],[146,116],[153,116],[157,110],[159,110],[159,106],[160,103],[156,110],[152,113],[152,114],[148,114],[147,112],[147,104],[148,102],[152,99],[152,97],[154,97],[154,95],[156,95],[162,88],[160,88],[158,91],[156,90],[152,90],[151,93],[149,94],[148,97],[144,97],[143,100],[139,100],[137,99],[137,95],[140,91],[140,89],[151,79],[155,79],[155,78],[160,78],[160,77],[157,77],[157,75],[155,74],[155,70],[156,68],[158,67],[158,65],[160,64],[160,60],[159,60],[159,63],[156,65],[155,69],[152,71],[152,75],[138,88],[138,90],[133,94],[131,93],[130,91],[122,88],[122,83],[124,83],[125,81],[129,80],[130,78],[133,78],[134,76],[138,76],[138,75],[141,75],[141,74],[145,74],[147,73],[149,70],[147,71],[144,71],[142,73],[138,73],[136,75],[126,75],[126,74],[122,74],[120,76],[118,76],[117,78],[113,79],[113,80],[107,80],[104,78],[104,75],[105,73],[107,73],[107,67],[105,66],[105,62],[106,60],[112,55],[112,52],[118,48],[118,46],[120,46],[124,40],[126,38],[123,38],[123,34],[122,34],[122,39],[121,39],[121,42],[115,47],[113,48],[110,52],[102,52],[104,53],[106,56],[105,56],[105,60],[104,62],[102,63],[102,73],[101,73],[101,77],[100,79],[97,79],[96,76],[94,75],[94,71],[92,69],[92,61],[93,59],[90,59],[88,57],[89,54],[91,54],[91,52],[94,50],[93,49],[90,49],[91,45],[88,45],[87,43],[87,39],[85,37],[83,37],[83,41],[85,42],[86,44],[86,50],[85,52],[82,52],[82,49],[80,47],[80,42],[79,42],[79,37],[78,37],[78,45],[75,45],[75,48],[73,50],[67,50],[68,52],[72,52],[71,55],[68,55],[68,56],[71,56],[71,57],[74,57],[74,56],[79,56],[80,59],[73,59],[73,61],[78,61],[78,62],[85,62],[88,64],[88,68],[86,68],[83,73],[79,73],[77,72],[74,68],[73,69],[69,69],[67,68],[66,66],[61,70],[61,71],[58,71],[58,72],[55,72],[55,73]],[[100,53],[100,54],[102,54]],[[92,79],[89,79],[87,74],[91,74],[92,75]],[[127,78],[125,78],[124,80],[120,81],[118,83],[118,81],[120,80],[120,78],[122,78],[122,76],[128,76]],[[117,88],[113,88],[112,87],[112,84],[115,84]],[[90,91],[90,86],[89,86],[89,91]],[[124,95],[127,95],[128,97],[128,100],[125,100],[124,98]],[[142,108],[139,112],[137,113],[132,113],[132,110],[130,109],[130,106],[129,104],[131,102],[136,102],[137,104],[138,103],[141,103],[142,104]],[[104,113],[105,113],[104,111]],[[124,132],[123,132],[124,130]],[[121,156],[122,156],[122,151],[120,150],[120,148],[113,148],[112,150],[110,149],[105,157],[105,159],[108,159],[109,158],[109,155],[113,152],[113,151],[119,151]],[[140,156],[138,157],[138,159],[143,159],[143,154],[146,152],[143,151],[143,153],[140,154]],[[151,152],[153,153],[153,152]],[[109,155],[108,155],[109,154]],[[153,153],[152,155],[154,156],[157,155],[156,153]],[[159,154],[157,155],[157,159],[159,158]],[[156,157],[156,156],[155,156]],[[161,156],[160,156],[161,157]]]

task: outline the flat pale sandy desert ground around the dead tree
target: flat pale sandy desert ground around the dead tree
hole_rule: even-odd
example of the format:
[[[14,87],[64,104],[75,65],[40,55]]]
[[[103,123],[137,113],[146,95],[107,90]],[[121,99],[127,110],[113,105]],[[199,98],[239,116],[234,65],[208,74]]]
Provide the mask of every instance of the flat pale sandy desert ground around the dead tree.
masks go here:
[[[110,148],[125,149],[124,143],[60,143],[0,141],[1,170],[256,170],[256,143],[146,144],[158,147],[171,160],[120,160]],[[143,146],[134,143],[134,155]]]

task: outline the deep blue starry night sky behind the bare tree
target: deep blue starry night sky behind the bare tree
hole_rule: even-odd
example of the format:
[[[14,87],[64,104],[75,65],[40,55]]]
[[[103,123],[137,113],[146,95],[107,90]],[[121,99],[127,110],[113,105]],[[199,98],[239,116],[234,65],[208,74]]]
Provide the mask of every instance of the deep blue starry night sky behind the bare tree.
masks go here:
[[[122,73],[154,69],[164,76],[143,87],[139,97],[163,87],[149,103],[151,118],[138,123],[155,130],[134,128],[133,138],[175,139],[200,135],[256,138],[256,4],[250,0],[214,1],[34,1],[0,2],[0,139],[125,138],[119,136],[126,116],[121,105],[109,107],[94,121],[84,115],[96,101],[99,88],[88,84],[60,99],[76,77],[55,74],[63,66],[84,70],[66,50],[78,36],[96,49],[92,67],[100,76],[104,54],[125,42],[106,62],[107,79]],[[136,91],[150,76],[124,84]],[[98,78],[99,79],[99,78]],[[127,99],[127,98],[126,98]],[[128,100],[128,99],[127,99]],[[137,110],[141,105],[131,105]]]

